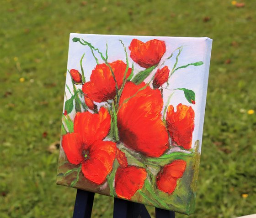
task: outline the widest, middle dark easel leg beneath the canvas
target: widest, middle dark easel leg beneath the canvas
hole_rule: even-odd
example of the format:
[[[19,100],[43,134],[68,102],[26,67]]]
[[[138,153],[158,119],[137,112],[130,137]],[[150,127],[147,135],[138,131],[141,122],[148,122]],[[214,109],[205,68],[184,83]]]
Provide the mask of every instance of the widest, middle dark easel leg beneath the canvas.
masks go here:
[[[144,204],[115,198],[113,218],[150,218]]]

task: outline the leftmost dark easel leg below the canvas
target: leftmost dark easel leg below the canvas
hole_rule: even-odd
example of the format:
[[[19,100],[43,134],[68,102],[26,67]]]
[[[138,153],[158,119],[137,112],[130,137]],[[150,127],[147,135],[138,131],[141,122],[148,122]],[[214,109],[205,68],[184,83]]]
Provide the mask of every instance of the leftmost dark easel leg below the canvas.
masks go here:
[[[91,218],[94,193],[77,189],[73,218]]]

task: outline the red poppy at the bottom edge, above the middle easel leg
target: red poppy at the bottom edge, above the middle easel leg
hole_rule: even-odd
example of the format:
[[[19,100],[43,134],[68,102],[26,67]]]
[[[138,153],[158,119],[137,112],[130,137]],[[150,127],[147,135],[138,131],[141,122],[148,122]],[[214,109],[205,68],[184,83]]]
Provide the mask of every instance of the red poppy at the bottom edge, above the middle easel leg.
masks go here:
[[[118,167],[115,176],[115,190],[119,198],[130,200],[142,188],[147,177],[144,168],[128,166]]]

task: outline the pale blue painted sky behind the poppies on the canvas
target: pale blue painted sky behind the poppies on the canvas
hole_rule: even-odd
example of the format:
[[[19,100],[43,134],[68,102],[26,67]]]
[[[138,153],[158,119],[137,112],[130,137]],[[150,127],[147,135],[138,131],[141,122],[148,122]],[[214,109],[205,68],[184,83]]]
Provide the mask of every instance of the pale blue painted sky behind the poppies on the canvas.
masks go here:
[[[140,41],[146,42],[152,39],[158,39],[165,41],[166,44],[166,52],[162,57],[159,66],[165,61],[167,57],[171,55],[173,51],[175,51],[178,47],[183,46],[183,50],[179,56],[179,61],[176,67],[184,66],[189,63],[195,63],[198,61],[203,61],[202,66],[188,66],[187,68],[180,69],[176,71],[169,80],[168,89],[174,90],[176,88],[186,88],[192,89],[196,93],[196,104],[190,104],[185,96],[183,91],[171,91],[164,89],[163,91],[163,99],[164,106],[166,105],[166,101],[168,96],[172,93],[170,104],[175,108],[179,103],[184,105],[192,106],[195,111],[195,129],[193,132],[192,145],[198,139],[200,141],[200,145],[202,142],[202,133],[203,133],[203,118],[205,111],[205,101],[206,101],[206,93],[207,93],[207,83],[208,83],[208,71],[209,71],[209,61],[210,61],[210,52],[212,46],[212,40],[207,37],[202,38],[192,38],[192,37],[160,37],[160,36],[124,36],[124,35],[94,35],[94,34],[76,34],[71,33],[69,38],[69,55],[68,55],[68,66],[67,69],[77,69],[80,71],[80,58],[85,53],[85,57],[83,59],[83,68],[85,71],[85,79],[86,81],[90,80],[91,71],[96,66],[96,61],[91,54],[91,49],[88,46],[83,46],[79,42],[73,42],[72,39],[74,37],[82,38],[85,41],[90,42],[94,47],[98,48],[103,54],[106,51],[106,43],[108,45],[108,62],[122,60],[126,62],[124,48],[119,40],[122,40],[127,52],[128,56],[130,55],[130,51],[128,46],[133,38],[136,38]],[[172,58],[165,61],[164,65],[168,66],[171,70],[176,61],[176,55],[178,51],[175,51]],[[95,52],[96,57],[98,58],[100,63],[103,63],[99,54]],[[133,60],[129,58],[130,67],[132,66]],[[157,67],[158,68],[158,67]],[[152,75],[155,73],[157,68],[152,71]],[[134,74],[139,71],[144,70],[144,68],[140,67],[138,64],[134,63]],[[149,81],[151,76],[145,81]],[[66,84],[69,87],[72,87],[71,79],[69,74],[67,73]],[[167,84],[165,83],[163,87]],[[69,98],[69,92],[67,90],[66,94]],[[66,100],[66,99],[65,99]],[[200,147],[201,150],[201,147]]]

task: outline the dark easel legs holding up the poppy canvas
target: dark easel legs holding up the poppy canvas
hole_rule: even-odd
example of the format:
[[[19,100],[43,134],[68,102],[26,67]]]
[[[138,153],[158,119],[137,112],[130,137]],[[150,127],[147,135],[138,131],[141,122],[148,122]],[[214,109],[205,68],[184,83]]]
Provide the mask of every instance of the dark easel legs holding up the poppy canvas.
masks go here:
[[[91,218],[94,193],[77,189],[73,218]],[[144,204],[115,198],[113,218],[150,218]],[[175,218],[173,211],[155,208],[155,218]]]

